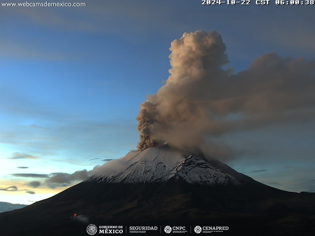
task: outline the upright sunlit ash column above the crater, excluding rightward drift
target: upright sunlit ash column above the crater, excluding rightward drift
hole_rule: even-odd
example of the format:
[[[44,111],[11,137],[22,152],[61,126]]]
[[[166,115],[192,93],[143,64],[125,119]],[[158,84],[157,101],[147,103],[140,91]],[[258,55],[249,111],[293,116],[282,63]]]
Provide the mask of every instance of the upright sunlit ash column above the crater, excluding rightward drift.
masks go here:
[[[184,33],[169,49],[172,68],[166,84],[140,105],[138,150],[164,142],[185,147],[192,140],[202,143],[200,124],[210,120],[209,86],[213,78],[227,76],[221,69],[228,62],[226,46],[216,31]]]

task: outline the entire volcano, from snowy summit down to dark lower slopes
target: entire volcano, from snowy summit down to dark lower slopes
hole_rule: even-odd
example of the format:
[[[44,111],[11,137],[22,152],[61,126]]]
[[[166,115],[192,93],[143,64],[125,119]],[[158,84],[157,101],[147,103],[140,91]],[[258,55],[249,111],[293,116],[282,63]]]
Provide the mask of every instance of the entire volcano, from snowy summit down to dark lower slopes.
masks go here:
[[[95,224],[122,225],[126,234],[129,226],[200,225],[228,227],[213,232],[219,235],[312,235],[314,212],[313,193],[272,188],[214,158],[163,145],[131,151],[51,198],[0,213],[0,232],[88,235]]]

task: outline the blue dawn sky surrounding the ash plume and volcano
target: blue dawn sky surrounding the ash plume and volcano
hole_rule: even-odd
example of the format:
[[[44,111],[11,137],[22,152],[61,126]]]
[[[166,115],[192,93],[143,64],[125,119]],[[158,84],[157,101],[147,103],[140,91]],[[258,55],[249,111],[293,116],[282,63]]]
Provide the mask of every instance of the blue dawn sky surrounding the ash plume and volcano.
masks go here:
[[[74,177],[75,171],[135,149],[139,105],[168,78],[170,42],[184,32],[220,33],[235,72],[264,53],[314,59],[311,5],[86,4],[0,6],[1,201],[47,198],[80,182],[85,172]],[[227,164],[273,187],[315,191],[314,124],[301,120],[224,137],[240,151]],[[23,173],[49,176],[13,175]],[[68,179],[49,185],[61,175]]]

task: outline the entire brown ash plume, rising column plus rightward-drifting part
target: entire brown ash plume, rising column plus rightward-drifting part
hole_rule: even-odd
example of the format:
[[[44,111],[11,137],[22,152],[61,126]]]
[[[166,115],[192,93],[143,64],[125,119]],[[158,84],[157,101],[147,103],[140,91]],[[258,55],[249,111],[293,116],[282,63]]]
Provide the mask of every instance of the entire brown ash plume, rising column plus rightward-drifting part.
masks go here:
[[[184,33],[170,47],[170,76],[140,105],[138,150],[169,143],[218,158],[233,155],[218,138],[315,114],[315,61],[276,53],[231,74],[216,31]]]

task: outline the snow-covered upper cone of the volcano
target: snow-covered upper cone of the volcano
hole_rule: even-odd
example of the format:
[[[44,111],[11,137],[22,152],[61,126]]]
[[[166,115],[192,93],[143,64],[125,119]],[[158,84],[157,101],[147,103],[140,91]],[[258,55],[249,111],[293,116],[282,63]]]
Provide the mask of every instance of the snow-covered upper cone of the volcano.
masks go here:
[[[184,155],[167,145],[131,151],[121,159],[96,167],[87,181],[107,183],[161,182],[183,179],[194,184],[227,184],[242,182],[223,171],[210,166],[205,160]]]

